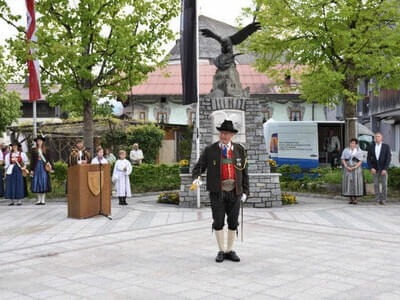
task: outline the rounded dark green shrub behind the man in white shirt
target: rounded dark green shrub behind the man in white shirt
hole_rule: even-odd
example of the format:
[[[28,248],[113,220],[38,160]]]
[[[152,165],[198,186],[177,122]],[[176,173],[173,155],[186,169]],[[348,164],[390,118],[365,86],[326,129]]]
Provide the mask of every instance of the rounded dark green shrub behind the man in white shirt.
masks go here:
[[[162,146],[164,130],[154,124],[132,126],[127,130],[126,146],[132,148],[138,143],[143,151],[144,162],[154,164]],[[127,153],[129,155],[129,152]]]

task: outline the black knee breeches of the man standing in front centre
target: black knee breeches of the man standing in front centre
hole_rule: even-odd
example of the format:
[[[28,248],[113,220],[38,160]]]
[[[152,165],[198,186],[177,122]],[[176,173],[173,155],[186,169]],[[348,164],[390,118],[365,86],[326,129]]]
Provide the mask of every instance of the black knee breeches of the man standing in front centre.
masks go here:
[[[210,192],[211,209],[214,230],[221,230],[227,216],[229,230],[236,230],[239,223],[240,197],[235,191],[214,193]]]

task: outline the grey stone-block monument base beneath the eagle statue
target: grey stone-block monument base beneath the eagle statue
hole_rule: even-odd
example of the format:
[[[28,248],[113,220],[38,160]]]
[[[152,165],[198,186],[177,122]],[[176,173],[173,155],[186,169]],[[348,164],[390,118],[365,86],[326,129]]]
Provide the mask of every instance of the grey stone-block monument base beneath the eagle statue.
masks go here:
[[[249,172],[250,197],[246,206],[275,207],[281,206],[280,174],[271,174],[268,155],[263,135],[262,105],[259,99],[249,98],[202,98],[200,102],[200,152],[212,143],[213,124],[211,113],[217,110],[236,109],[245,111],[246,143]],[[190,161],[190,171],[197,162],[196,130],[193,133],[193,146]],[[205,191],[205,175],[202,176],[204,185],[201,187],[201,204],[209,205],[208,193]],[[196,192],[189,190],[192,184],[190,174],[181,175],[180,205],[196,207]]]

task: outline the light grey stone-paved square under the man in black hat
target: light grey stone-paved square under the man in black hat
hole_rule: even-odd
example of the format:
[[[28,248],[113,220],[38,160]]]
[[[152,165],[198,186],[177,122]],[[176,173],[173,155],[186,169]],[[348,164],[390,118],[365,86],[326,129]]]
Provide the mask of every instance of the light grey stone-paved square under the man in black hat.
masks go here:
[[[240,263],[214,262],[209,208],[0,204],[0,299],[400,299],[400,205],[245,209]]]

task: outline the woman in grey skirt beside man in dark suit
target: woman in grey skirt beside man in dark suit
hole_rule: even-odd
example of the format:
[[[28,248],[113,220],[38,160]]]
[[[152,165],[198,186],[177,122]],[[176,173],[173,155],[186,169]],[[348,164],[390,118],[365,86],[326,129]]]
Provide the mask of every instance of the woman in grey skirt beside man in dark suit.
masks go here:
[[[349,204],[357,204],[357,197],[364,196],[364,175],[362,170],[363,152],[358,140],[351,139],[350,146],[343,150],[342,156],[342,195],[350,197]]]

